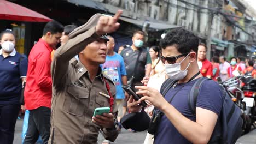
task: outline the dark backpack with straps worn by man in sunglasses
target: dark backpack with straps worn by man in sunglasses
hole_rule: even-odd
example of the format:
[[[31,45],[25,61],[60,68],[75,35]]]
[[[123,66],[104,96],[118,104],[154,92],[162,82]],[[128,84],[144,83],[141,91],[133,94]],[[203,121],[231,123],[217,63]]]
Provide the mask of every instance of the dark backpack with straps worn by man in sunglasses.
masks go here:
[[[194,83],[188,94],[189,108],[195,115],[196,100],[202,83],[211,80],[206,77],[200,77]],[[165,96],[168,90],[176,81],[167,79],[161,86],[160,93]],[[222,89],[223,105],[219,115],[220,125],[216,125],[211,139],[208,143],[235,143],[242,133],[243,120],[241,117],[241,109],[231,100],[223,86]]]

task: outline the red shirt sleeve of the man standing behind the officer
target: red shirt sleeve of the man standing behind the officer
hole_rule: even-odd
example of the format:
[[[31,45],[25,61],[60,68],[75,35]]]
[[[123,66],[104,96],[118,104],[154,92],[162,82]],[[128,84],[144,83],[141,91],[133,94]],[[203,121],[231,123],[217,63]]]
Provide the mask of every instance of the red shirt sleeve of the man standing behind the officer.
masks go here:
[[[49,53],[40,53],[34,68],[34,74],[37,77],[36,83],[39,87],[51,87],[51,77],[49,76],[50,67],[51,59]]]

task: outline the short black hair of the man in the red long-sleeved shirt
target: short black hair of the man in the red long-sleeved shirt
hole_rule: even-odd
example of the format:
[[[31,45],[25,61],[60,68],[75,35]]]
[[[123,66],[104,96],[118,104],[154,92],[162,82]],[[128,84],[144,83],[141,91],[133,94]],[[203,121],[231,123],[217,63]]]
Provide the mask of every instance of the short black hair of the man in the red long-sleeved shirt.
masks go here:
[[[43,35],[50,32],[51,34],[62,33],[64,31],[64,27],[60,22],[50,21],[44,26]]]

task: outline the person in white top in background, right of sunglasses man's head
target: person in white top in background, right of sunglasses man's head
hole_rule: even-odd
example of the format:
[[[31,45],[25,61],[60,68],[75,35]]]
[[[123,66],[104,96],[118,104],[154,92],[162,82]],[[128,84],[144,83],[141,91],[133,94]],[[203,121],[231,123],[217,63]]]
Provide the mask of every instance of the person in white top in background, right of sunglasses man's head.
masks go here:
[[[220,79],[222,79],[222,81],[228,80],[229,76],[228,76],[228,68],[230,67],[230,64],[228,62],[226,62],[226,58],[224,56],[220,56],[219,57],[219,76]]]

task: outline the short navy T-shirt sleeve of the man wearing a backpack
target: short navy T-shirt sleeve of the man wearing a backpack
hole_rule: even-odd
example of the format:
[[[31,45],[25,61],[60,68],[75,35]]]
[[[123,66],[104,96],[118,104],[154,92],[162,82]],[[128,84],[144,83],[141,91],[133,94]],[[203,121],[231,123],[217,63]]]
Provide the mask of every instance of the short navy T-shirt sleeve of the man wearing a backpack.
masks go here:
[[[218,83],[213,80],[206,80],[199,89],[197,97],[196,107],[210,110],[216,113],[218,116],[222,109],[222,91],[218,86]]]

